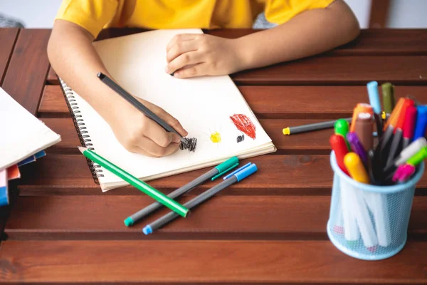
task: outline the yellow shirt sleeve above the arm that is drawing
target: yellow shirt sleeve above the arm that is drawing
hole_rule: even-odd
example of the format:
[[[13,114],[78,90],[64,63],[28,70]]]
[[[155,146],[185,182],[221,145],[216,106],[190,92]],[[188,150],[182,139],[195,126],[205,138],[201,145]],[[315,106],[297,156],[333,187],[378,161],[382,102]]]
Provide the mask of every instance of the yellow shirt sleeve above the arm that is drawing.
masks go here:
[[[117,11],[117,0],[63,0],[55,19],[70,21],[96,38]]]

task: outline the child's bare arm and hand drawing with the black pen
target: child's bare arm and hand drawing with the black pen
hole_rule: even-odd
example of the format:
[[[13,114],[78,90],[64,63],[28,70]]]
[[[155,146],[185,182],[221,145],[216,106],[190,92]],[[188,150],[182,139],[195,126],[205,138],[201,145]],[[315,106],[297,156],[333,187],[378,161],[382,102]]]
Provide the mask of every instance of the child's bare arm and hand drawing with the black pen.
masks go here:
[[[68,21],[55,21],[48,43],[48,57],[58,76],[100,113],[127,150],[156,157],[177,150],[178,135],[164,131],[97,78],[99,71],[110,74],[92,41],[93,36],[84,28]],[[187,135],[172,115],[154,104],[141,101],[181,135]]]

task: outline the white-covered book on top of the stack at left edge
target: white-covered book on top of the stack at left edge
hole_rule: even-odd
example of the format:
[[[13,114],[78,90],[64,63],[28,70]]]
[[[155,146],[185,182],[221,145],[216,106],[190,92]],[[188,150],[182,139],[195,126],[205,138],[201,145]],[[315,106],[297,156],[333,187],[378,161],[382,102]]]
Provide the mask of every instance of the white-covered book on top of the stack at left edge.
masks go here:
[[[60,142],[60,135],[53,132],[41,120],[19,105],[14,98],[0,88],[1,133],[0,170],[16,165],[27,157]]]

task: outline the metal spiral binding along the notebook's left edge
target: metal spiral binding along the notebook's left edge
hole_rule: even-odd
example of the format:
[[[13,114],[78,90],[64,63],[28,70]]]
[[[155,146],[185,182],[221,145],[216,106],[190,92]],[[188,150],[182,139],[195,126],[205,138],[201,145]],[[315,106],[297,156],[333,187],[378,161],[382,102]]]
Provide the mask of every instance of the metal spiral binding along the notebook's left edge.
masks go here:
[[[83,147],[88,147],[89,150],[95,150],[93,148],[92,140],[90,140],[90,135],[88,132],[88,128],[85,126],[85,120],[83,119],[83,115],[80,112],[80,108],[78,107],[78,103],[75,100],[75,96],[73,90],[65,84],[65,82],[59,78],[60,81],[60,89],[63,92],[65,97],[65,102],[67,103],[68,110],[70,110],[71,118],[73,118],[74,128],[77,131],[78,138]],[[92,172],[93,180],[95,180],[96,184],[100,184],[98,177],[104,177],[102,174],[102,169],[100,169],[100,165],[93,162],[92,160],[86,159],[88,162],[90,172]]]

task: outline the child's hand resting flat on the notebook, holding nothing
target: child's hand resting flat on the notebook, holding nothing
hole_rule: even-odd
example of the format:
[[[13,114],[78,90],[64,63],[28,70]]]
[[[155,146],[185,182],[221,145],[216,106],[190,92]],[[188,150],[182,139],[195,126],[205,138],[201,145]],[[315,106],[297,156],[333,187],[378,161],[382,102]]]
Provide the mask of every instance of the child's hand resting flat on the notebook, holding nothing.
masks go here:
[[[167,45],[166,72],[178,78],[234,73],[243,69],[240,51],[235,39],[182,33]]]

